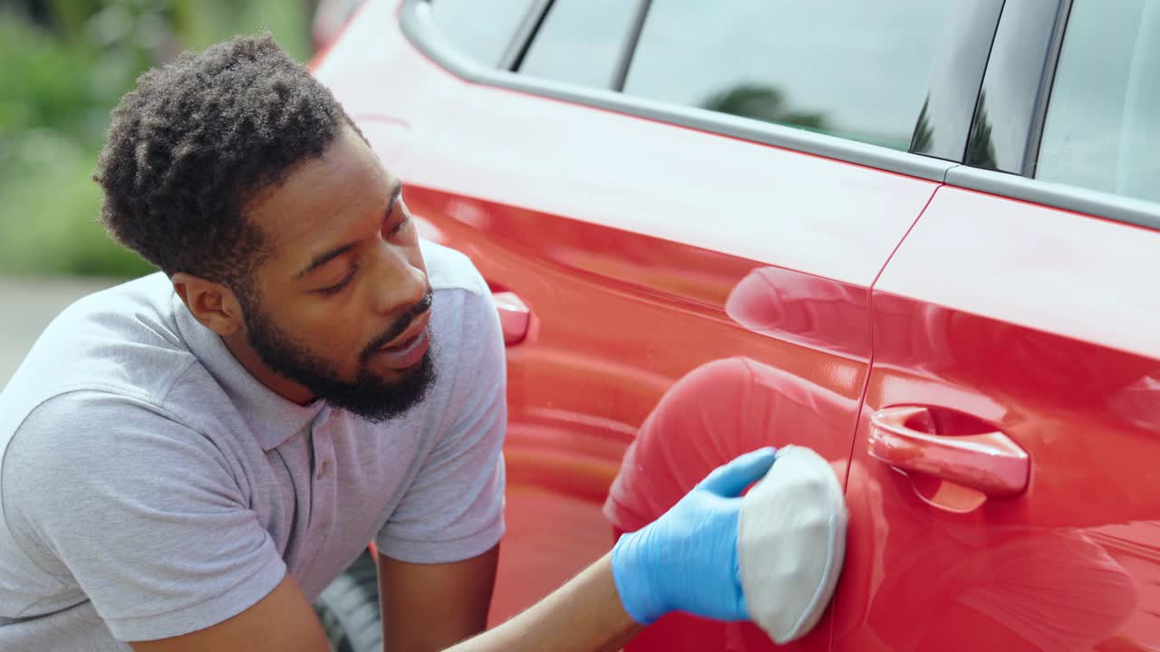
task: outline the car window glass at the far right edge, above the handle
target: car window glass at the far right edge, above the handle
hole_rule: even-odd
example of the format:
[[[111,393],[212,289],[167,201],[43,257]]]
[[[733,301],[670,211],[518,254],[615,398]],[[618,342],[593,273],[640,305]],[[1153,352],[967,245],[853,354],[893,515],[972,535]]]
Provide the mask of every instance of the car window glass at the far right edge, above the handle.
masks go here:
[[[1075,0],[1036,178],[1160,202],[1160,0]]]

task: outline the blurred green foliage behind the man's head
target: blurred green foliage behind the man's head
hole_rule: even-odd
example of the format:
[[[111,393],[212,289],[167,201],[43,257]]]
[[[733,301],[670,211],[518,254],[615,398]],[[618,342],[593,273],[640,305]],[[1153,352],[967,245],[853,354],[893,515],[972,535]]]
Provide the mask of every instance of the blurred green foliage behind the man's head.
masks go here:
[[[312,2],[49,0],[50,24],[0,9],[0,273],[130,277],[152,267],[96,222],[109,111],[151,65],[269,29],[310,53]]]

